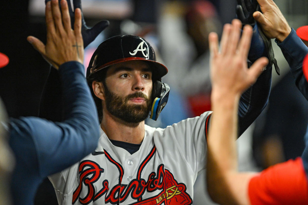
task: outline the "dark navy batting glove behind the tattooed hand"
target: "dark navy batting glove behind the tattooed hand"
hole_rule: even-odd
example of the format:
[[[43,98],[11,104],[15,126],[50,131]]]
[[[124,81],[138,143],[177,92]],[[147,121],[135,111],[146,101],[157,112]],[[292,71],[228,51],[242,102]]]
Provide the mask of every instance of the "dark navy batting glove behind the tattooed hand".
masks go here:
[[[45,0],[45,3],[50,0]],[[68,10],[71,16],[71,25],[74,25],[75,14],[71,7],[71,1],[67,1]],[[83,38],[83,46],[87,47],[94,39],[109,25],[109,21],[103,20],[95,24],[91,29],[87,27],[86,22],[83,18],[83,12],[81,8],[81,0],[73,0],[74,9],[79,8],[81,10],[81,34]],[[73,29],[73,28],[72,28]]]

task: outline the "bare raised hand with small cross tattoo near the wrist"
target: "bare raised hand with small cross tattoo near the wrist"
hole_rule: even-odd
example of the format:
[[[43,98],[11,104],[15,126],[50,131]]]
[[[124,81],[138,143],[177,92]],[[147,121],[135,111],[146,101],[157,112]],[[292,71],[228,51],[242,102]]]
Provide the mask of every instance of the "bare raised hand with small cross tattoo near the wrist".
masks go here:
[[[71,29],[71,18],[66,0],[61,0],[61,11],[58,0],[47,2],[45,15],[47,26],[46,45],[33,36],[28,36],[27,40],[56,69],[59,69],[61,64],[68,61],[83,63],[80,9],[75,10],[74,30]]]

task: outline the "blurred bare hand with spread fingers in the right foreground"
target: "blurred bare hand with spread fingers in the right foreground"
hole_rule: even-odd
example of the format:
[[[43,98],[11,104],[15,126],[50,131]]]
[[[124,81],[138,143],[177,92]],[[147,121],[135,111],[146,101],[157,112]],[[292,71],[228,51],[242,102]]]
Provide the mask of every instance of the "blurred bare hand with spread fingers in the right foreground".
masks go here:
[[[212,97],[228,95],[240,97],[241,93],[257,80],[262,68],[268,64],[268,59],[261,57],[248,69],[246,59],[252,27],[244,26],[240,38],[241,26],[241,21],[238,19],[234,19],[232,25],[224,26],[220,51],[217,34],[213,32],[209,34]]]

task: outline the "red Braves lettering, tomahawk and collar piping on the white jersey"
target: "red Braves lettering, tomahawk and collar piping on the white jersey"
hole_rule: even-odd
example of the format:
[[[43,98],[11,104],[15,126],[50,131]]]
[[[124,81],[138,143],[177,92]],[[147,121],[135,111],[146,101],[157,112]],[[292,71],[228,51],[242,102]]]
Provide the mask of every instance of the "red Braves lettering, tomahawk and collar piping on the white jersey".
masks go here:
[[[105,151],[107,159],[112,164],[115,164],[119,170],[119,184],[109,187],[108,180],[105,179],[99,191],[95,191],[93,183],[100,178],[104,170],[91,160],[82,161],[79,164],[80,182],[79,186],[74,191],[72,203],[74,204],[78,200],[81,204],[89,204],[104,195],[106,204],[122,203],[128,198],[128,196],[132,199],[136,199],[136,202],[130,205],[192,204],[192,199],[186,192],[186,185],[184,183],[178,183],[174,179],[173,174],[168,169],[164,169],[164,164],[158,166],[156,173],[154,171],[150,173],[147,180],[140,177],[143,168],[155,152],[156,147],[154,146],[149,155],[141,163],[136,179],[133,179],[129,184],[121,184],[124,173],[123,168]],[[81,198],[80,193],[83,188],[87,188],[87,195],[84,198]],[[142,199],[145,192],[153,192],[157,190],[160,190],[159,194],[147,199]]]

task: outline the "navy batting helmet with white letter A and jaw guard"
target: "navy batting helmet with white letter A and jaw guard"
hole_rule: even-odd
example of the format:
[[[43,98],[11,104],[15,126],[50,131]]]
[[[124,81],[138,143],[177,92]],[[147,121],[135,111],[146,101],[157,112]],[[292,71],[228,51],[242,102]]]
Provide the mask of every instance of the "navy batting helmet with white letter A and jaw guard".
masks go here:
[[[89,78],[93,73],[110,65],[133,60],[147,61],[152,68],[153,89],[150,118],[157,120],[168,101],[169,85],[161,82],[161,77],[168,73],[168,69],[156,61],[154,49],[142,37],[118,35],[103,41],[91,57],[86,77]]]

